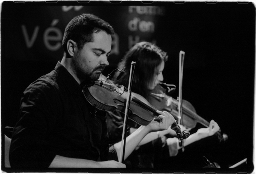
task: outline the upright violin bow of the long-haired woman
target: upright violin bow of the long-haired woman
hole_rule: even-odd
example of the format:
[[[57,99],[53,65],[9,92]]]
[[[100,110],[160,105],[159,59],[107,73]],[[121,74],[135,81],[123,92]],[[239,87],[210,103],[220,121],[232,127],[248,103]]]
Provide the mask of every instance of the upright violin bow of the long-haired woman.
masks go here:
[[[185,52],[180,51],[179,56],[179,103],[178,103],[178,124],[183,125],[182,117],[182,79],[183,79],[183,65],[184,65]],[[183,141],[181,140],[182,151],[184,151]]]

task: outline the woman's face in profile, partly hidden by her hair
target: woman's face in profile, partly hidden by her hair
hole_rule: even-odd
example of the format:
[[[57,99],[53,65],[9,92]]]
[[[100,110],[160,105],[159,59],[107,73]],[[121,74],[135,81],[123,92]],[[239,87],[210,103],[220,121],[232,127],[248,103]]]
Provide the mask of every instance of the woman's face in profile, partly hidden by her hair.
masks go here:
[[[157,84],[159,84],[159,82],[164,80],[163,74],[162,74],[164,68],[165,68],[164,61],[162,61],[161,64],[155,68],[155,73],[154,73],[153,79],[151,82],[149,82],[149,85],[148,85],[149,90],[155,89]]]

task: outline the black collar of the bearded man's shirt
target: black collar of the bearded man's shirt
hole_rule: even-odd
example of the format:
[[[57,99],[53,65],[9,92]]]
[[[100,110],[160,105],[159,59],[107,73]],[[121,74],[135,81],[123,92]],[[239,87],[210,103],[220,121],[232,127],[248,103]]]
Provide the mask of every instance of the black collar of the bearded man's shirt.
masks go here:
[[[62,79],[65,86],[73,94],[77,90],[81,90],[81,85],[73,78],[73,76],[67,71],[67,69],[58,61],[57,65],[54,68],[58,73],[58,76]]]

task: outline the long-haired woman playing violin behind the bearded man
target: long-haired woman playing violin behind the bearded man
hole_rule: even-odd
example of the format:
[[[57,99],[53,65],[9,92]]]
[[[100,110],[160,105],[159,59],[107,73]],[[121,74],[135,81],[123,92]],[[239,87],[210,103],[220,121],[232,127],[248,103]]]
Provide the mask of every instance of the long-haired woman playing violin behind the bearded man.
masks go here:
[[[162,51],[156,45],[149,42],[140,42],[134,45],[124,56],[122,61],[119,63],[118,68],[121,70],[125,67],[125,72],[119,80],[117,79],[117,74],[112,78],[115,84],[120,84],[128,87],[129,82],[129,72],[131,68],[131,62],[135,61],[135,71],[133,75],[132,92],[140,94],[146,98],[149,103],[151,103],[151,92],[159,85],[159,82],[163,81],[163,70],[165,67],[165,62],[167,61],[167,53]],[[122,130],[123,130],[123,115],[118,113],[107,114],[108,125],[113,143],[121,141]],[[139,125],[128,119],[128,135],[133,133]],[[180,127],[182,127],[180,125]],[[183,129],[184,127],[182,127]],[[205,137],[214,135],[219,130],[219,126],[215,121],[210,121],[208,128],[198,129],[196,133],[190,135],[187,139],[183,140],[183,147],[194,143]],[[167,139],[165,135],[172,135],[174,138]],[[175,131],[168,129],[165,131],[152,132],[146,135],[146,137],[141,141],[137,150],[135,150],[129,158],[125,161],[127,167],[154,167],[154,152],[153,147],[156,147],[159,142],[160,147],[165,145],[173,146],[171,149],[178,150],[181,149],[177,138],[175,138]]]

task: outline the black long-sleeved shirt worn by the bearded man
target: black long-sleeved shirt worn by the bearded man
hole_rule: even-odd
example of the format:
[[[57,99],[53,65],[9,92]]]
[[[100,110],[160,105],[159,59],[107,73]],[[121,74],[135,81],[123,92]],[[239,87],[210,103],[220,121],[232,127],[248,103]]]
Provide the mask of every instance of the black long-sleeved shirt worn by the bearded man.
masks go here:
[[[56,155],[117,160],[105,113],[90,113],[82,88],[60,62],[28,86],[12,136],[11,167],[48,167]]]

